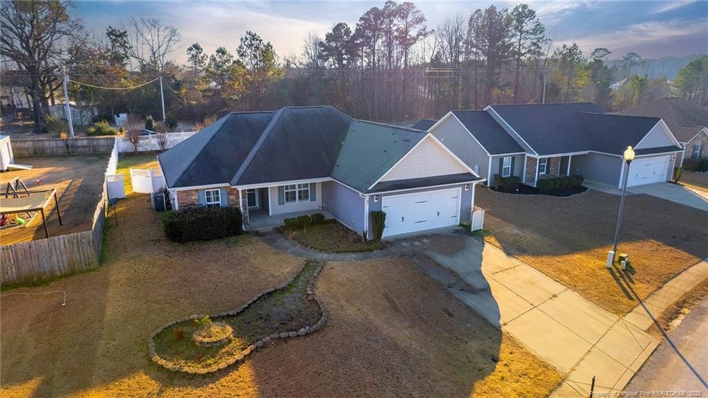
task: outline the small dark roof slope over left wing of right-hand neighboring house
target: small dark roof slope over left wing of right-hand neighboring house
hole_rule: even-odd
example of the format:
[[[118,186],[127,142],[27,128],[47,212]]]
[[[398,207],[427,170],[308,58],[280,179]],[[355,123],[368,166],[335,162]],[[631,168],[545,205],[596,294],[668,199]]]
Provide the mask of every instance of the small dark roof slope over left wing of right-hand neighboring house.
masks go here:
[[[453,110],[452,114],[490,154],[525,152],[486,110]]]

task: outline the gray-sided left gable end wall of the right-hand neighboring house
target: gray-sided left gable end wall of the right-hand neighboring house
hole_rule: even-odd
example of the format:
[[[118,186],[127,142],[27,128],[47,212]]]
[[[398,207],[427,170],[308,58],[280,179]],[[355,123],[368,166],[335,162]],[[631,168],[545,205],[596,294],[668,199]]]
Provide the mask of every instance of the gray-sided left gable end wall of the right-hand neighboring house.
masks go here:
[[[487,178],[489,155],[454,116],[444,120],[431,133],[470,169]]]

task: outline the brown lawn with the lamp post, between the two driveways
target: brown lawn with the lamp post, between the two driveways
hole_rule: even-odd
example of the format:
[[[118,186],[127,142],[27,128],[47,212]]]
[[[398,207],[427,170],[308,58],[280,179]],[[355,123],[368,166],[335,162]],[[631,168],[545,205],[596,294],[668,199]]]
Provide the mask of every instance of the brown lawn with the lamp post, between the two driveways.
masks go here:
[[[615,314],[625,314],[688,266],[708,257],[708,212],[632,195],[625,203],[619,253],[632,268],[607,271],[619,196],[587,191],[570,198],[477,191],[486,209],[486,241],[576,290]]]

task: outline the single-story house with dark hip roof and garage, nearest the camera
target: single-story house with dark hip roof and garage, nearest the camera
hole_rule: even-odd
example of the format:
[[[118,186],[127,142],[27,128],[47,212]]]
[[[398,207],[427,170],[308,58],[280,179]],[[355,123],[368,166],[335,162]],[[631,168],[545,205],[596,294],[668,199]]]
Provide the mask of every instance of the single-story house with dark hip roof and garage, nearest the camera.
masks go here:
[[[237,112],[160,154],[173,208],[239,206],[244,225],[326,212],[384,236],[469,222],[484,178],[433,135],[355,120],[330,106]]]

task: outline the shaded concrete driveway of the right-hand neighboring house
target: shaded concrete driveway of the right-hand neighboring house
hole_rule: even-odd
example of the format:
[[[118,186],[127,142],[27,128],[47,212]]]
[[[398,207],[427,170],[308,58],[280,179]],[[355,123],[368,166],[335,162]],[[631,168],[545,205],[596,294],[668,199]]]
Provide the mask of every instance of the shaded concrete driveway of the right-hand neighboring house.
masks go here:
[[[617,189],[617,186],[611,186],[597,181],[585,181],[584,186],[610,193],[611,195],[622,195],[622,191]],[[695,207],[700,210],[708,211],[708,192],[697,189],[680,186],[674,183],[656,183],[645,186],[634,186],[627,188],[627,195],[651,195],[656,198],[670,200],[675,203]]]

